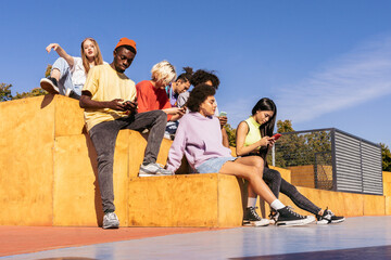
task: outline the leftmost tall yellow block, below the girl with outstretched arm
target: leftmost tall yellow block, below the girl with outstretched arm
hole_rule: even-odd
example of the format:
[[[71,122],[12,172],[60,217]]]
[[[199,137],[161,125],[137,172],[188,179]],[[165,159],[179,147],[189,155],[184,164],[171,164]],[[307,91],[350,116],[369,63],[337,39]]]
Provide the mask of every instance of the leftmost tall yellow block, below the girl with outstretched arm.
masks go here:
[[[51,224],[54,106],[42,99],[0,103],[0,224]]]

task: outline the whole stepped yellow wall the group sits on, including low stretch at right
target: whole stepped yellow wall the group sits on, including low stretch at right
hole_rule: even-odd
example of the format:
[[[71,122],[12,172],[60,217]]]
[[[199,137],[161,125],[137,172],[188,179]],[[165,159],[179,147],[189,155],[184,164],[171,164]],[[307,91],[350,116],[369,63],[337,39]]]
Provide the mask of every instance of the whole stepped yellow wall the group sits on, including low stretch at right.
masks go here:
[[[2,102],[0,121],[0,203],[7,209],[0,224],[98,226],[102,212],[97,156],[88,134],[83,134],[78,102],[60,95]],[[114,192],[122,226],[241,225],[247,204],[241,179],[216,173],[138,178],[147,138],[130,130],[117,138]],[[157,162],[165,165],[171,143],[163,140]],[[278,170],[293,181],[290,170]],[[391,173],[383,172],[383,179],[384,195],[390,195]],[[391,196],[298,188],[336,214],[391,214]],[[293,205],[285,195],[281,200]],[[268,214],[268,206],[260,206]]]

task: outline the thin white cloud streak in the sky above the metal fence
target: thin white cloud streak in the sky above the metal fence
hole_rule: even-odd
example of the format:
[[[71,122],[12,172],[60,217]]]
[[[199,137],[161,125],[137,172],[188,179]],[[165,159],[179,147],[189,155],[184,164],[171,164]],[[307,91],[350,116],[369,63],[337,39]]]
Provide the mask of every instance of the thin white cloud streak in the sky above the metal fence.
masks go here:
[[[366,42],[279,90],[279,118],[302,122],[391,94],[391,37]]]

